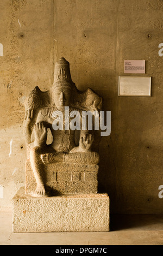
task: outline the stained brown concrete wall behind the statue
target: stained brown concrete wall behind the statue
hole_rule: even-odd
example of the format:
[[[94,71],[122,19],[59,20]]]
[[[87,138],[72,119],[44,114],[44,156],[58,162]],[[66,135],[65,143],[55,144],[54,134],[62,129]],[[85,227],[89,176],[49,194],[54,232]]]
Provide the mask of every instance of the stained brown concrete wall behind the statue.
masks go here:
[[[48,90],[65,57],[79,90],[91,87],[111,110],[98,177],[111,212],[163,213],[162,14],[161,0],[0,0],[1,209],[24,184],[24,98]],[[146,60],[152,97],[118,97],[124,59]]]

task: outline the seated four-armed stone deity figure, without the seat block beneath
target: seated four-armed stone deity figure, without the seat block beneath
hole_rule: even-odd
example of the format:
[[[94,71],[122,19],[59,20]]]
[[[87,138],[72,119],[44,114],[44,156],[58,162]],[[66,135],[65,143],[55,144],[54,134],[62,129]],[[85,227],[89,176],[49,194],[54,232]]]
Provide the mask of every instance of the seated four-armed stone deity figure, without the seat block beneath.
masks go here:
[[[83,123],[83,112],[101,110],[102,98],[90,88],[86,92],[78,91],[65,58],[55,63],[51,91],[41,92],[35,87],[25,106],[23,132],[37,184],[36,197],[48,196],[50,190],[43,179],[45,165],[58,162],[98,164],[99,154],[93,147],[97,142],[96,131]],[[48,130],[52,135],[51,144],[47,144]],[[79,132],[78,145],[76,132]]]

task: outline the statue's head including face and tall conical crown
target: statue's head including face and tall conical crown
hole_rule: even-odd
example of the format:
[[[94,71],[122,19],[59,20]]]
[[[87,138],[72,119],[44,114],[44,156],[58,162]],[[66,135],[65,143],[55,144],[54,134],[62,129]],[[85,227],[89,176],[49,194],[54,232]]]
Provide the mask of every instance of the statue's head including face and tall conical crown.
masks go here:
[[[65,58],[60,58],[55,63],[54,69],[53,99],[55,105],[70,106],[75,87],[71,79],[70,63]]]

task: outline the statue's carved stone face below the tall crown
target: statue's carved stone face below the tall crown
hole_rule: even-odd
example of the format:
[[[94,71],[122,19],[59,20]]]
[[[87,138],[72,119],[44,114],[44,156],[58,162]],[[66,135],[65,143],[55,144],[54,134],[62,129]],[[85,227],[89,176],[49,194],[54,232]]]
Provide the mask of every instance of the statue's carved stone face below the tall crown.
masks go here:
[[[54,90],[54,103],[56,106],[69,106],[72,90],[70,87],[60,86]]]

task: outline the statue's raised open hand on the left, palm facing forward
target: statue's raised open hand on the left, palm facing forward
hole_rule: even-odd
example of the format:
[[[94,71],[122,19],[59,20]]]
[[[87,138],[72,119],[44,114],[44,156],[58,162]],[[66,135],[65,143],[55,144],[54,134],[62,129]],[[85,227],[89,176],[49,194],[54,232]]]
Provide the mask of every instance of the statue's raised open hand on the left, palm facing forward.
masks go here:
[[[35,135],[35,146],[43,146],[46,145],[47,140],[47,128],[43,125],[42,122],[36,123],[34,127],[34,135]]]

